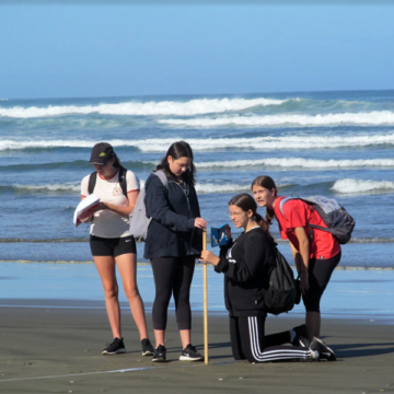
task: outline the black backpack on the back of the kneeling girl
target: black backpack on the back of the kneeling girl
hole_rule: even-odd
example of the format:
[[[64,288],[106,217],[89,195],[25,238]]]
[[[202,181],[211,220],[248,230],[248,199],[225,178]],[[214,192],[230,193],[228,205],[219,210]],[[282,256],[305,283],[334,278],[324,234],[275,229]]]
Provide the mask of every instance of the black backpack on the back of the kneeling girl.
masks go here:
[[[267,313],[278,315],[291,311],[300,300],[291,267],[274,244],[273,253],[275,264],[269,273],[268,289],[264,291],[264,305]]]

